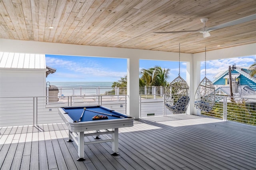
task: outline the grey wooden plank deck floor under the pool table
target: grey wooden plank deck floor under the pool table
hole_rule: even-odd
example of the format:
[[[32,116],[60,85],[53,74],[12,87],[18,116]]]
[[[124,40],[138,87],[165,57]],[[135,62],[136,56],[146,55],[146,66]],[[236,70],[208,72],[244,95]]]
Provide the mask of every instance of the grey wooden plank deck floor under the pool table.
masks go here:
[[[0,127],[1,170],[255,170],[256,127],[193,115],[138,119],[111,143],[85,146],[83,162],[64,124]],[[101,136],[104,138],[104,136]],[[95,140],[92,137],[85,140]]]

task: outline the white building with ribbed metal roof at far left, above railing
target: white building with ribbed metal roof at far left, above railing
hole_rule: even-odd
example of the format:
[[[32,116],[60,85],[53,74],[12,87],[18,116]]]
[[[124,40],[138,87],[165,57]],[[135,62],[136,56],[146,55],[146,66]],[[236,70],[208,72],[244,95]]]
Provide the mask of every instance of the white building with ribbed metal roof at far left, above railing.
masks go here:
[[[0,52],[0,97],[46,96],[45,55]]]

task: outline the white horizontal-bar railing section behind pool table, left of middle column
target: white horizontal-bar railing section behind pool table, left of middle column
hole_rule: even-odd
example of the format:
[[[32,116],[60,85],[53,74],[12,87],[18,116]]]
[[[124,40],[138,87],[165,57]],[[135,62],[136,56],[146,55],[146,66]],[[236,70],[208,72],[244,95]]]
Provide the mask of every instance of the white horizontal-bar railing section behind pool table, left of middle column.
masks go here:
[[[102,105],[126,114],[126,95],[0,97],[0,126],[63,122],[59,107]]]

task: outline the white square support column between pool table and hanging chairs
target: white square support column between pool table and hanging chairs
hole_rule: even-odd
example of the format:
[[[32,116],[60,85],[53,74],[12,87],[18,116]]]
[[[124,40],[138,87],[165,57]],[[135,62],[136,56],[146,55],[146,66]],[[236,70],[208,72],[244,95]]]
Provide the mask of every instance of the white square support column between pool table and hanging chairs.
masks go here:
[[[127,59],[127,114],[139,118],[139,59],[131,57]]]

